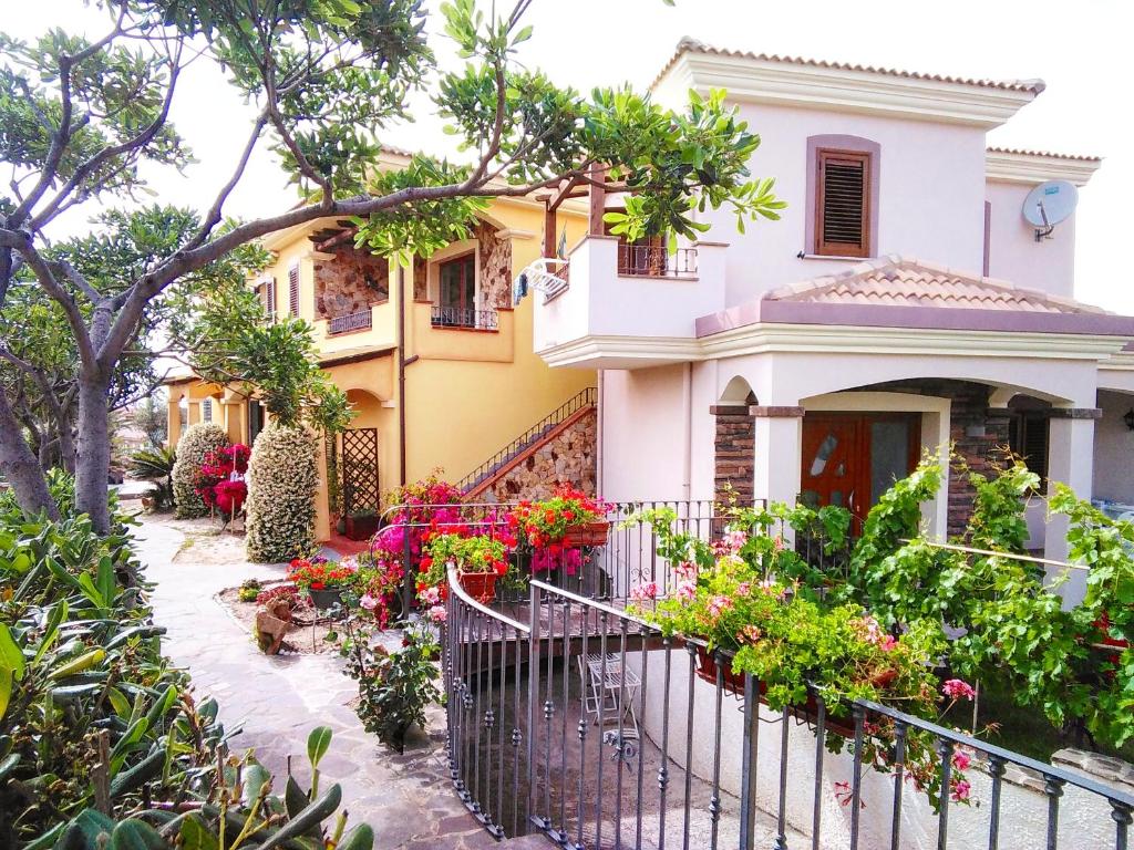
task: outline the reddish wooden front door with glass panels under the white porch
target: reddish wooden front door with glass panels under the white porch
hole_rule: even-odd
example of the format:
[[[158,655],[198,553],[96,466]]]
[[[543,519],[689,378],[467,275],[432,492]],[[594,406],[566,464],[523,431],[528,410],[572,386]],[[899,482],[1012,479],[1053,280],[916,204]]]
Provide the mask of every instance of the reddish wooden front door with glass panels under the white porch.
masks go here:
[[[920,443],[916,414],[807,414],[801,501],[846,508],[857,534],[882,493],[913,471]]]

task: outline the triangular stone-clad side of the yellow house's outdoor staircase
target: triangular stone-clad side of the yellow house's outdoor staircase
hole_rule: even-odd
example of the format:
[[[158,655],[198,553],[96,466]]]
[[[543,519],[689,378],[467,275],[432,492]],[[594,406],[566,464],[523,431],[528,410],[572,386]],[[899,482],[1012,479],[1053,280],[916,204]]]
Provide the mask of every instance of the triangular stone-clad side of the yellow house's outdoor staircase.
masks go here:
[[[493,482],[476,501],[547,499],[562,483],[594,495],[596,436],[598,418],[591,410]]]

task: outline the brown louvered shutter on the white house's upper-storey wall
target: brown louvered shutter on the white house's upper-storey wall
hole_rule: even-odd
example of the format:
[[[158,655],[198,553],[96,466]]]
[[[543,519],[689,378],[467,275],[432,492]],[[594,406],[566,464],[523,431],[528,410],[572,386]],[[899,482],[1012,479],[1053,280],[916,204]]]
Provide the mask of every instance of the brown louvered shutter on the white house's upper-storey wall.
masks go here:
[[[815,253],[870,256],[870,154],[818,152]]]

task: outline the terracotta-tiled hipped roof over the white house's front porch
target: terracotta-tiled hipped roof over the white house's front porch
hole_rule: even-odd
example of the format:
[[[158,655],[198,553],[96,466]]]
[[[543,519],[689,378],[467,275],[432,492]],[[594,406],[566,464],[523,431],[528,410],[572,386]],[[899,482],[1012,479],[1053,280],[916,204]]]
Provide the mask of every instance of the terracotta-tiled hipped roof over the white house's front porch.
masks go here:
[[[1103,309],[1069,298],[897,255],[860,263],[840,274],[772,290],[764,296],[764,300],[1107,314]]]

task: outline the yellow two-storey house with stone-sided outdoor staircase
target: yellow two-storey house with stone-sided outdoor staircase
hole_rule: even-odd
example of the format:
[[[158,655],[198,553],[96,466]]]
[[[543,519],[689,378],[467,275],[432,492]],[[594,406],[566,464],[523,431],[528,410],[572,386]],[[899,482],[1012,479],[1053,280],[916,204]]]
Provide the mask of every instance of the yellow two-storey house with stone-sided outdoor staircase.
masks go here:
[[[405,164],[388,151],[380,164]],[[551,369],[533,354],[531,299],[513,281],[539,257],[544,204],[494,201],[473,228],[399,272],[354,246],[350,222],[324,220],[266,238],[274,262],[251,282],[270,316],[314,326],[320,363],[355,419],[321,452],[316,535],[336,515],[378,508],[379,495],[440,468],[474,500],[545,495],[556,481],[594,487],[594,372]],[[578,240],[585,207],[567,199],[556,239]],[[218,422],[251,444],[266,415],[239,386],[192,374],[169,382],[169,439]],[[328,486],[328,459],[338,487]],[[338,492],[332,492],[332,491]]]

